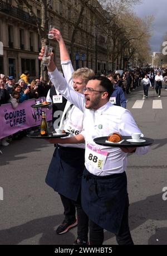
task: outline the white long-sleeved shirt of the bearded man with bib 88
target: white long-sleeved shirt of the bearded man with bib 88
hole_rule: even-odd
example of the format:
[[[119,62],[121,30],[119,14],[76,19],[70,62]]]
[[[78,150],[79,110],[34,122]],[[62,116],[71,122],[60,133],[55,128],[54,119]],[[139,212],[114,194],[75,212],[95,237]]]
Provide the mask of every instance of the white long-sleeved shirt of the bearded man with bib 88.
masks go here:
[[[132,132],[141,132],[130,111],[114,106],[110,102],[98,110],[86,109],[85,96],[68,86],[66,80],[58,74],[57,69],[51,72],[50,76],[55,88],[84,112],[84,130],[81,134],[85,137],[85,166],[87,170],[96,176],[124,172],[127,166],[127,154],[120,148],[97,145],[94,138],[108,136],[111,132],[119,132],[122,136],[131,136]],[[148,150],[149,146],[136,148],[136,154],[143,155]],[[96,154],[94,155],[94,153]],[[98,162],[100,164],[97,164],[96,160],[100,160]]]

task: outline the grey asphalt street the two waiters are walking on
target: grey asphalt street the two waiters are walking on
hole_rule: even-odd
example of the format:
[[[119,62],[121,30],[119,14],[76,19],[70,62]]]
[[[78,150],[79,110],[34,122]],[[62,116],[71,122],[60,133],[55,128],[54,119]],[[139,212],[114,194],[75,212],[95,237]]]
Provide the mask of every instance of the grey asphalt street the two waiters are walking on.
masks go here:
[[[142,98],[139,87],[127,97],[127,108],[143,134],[155,139],[155,144],[142,157],[128,157],[130,229],[135,244],[167,244],[167,201],[162,199],[162,189],[167,187],[167,92],[163,89],[158,98],[150,89],[149,98],[134,105]],[[153,105],[153,101],[159,102]],[[53,146],[45,140],[24,137],[1,149],[0,187],[4,198],[0,201],[0,244],[72,244],[76,228],[63,235],[54,231],[63,220],[63,208],[58,194],[45,184]],[[115,236],[106,231],[104,244],[116,244]]]

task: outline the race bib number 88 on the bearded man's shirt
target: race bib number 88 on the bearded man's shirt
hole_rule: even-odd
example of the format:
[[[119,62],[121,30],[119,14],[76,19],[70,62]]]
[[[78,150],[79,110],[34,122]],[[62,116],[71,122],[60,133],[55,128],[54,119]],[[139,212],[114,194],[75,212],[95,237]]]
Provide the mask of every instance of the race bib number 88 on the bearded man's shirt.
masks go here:
[[[103,170],[107,159],[107,151],[97,149],[87,144],[85,162],[96,169]]]

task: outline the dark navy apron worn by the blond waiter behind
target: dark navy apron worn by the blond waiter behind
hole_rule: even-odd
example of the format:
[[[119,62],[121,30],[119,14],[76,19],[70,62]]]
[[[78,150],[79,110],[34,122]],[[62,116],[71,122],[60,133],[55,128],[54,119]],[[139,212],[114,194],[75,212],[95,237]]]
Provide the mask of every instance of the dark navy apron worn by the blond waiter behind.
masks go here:
[[[76,201],[84,168],[85,149],[57,145],[45,181],[61,195]]]

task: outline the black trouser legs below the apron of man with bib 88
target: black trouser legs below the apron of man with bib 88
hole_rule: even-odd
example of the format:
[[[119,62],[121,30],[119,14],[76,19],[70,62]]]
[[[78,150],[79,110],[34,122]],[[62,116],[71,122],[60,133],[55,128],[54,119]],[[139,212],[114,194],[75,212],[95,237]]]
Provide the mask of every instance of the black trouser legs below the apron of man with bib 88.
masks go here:
[[[122,217],[121,226],[119,233],[116,234],[116,241],[119,245],[133,245],[133,241],[131,238],[130,230],[129,230],[129,200],[127,197],[124,215]],[[89,221],[90,228],[90,244],[92,245],[102,245],[104,241],[104,229],[99,225],[95,224],[93,221]]]

